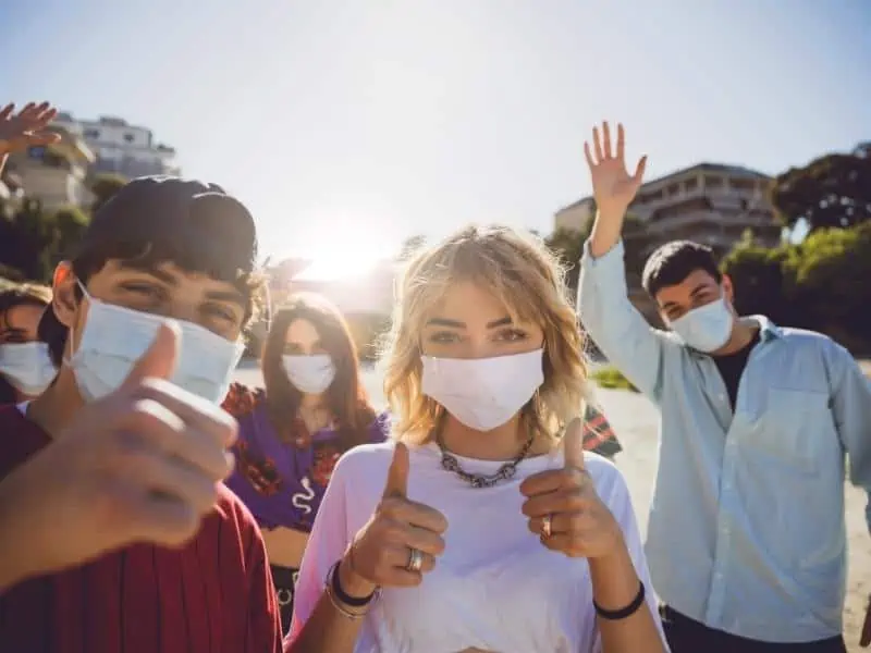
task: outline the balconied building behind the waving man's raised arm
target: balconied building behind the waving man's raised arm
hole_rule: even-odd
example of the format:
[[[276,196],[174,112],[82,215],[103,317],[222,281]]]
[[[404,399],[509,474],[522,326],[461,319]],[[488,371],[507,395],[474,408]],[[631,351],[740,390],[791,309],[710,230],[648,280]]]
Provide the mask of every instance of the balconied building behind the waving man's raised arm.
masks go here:
[[[723,254],[748,229],[759,243],[773,246],[782,227],[768,198],[771,177],[747,168],[699,163],[643,184],[629,212],[645,225],[637,235],[649,241],[651,251],[686,238]],[[557,211],[554,227],[585,231],[594,210],[593,199],[585,197]]]

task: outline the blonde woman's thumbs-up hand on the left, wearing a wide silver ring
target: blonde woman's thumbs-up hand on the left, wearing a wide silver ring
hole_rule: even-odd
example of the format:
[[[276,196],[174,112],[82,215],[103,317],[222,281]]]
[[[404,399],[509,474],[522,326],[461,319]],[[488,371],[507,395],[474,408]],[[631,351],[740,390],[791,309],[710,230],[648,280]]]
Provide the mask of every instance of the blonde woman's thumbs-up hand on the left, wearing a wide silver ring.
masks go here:
[[[408,448],[397,442],[381,502],[340,568],[342,584],[352,595],[365,596],[378,587],[418,586],[444,551],[447,520],[434,508],[408,500]]]

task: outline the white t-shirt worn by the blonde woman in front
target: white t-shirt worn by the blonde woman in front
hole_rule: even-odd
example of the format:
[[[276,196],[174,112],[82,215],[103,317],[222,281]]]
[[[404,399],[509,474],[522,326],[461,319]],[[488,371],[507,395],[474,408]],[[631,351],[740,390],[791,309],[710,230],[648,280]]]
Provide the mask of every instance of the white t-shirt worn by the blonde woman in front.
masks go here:
[[[303,557],[290,637],[309,618],[330,567],[378,505],[393,446],[358,446],[336,465]],[[477,473],[493,473],[501,465],[458,460]],[[587,560],[542,546],[520,512],[520,482],[562,464],[562,453],[529,458],[512,480],[476,489],[441,467],[436,445],[412,447],[408,498],[447,519],[444,554],[419,587],[382,591],[364,619],[355,653],[456,653],[473,646],[498,653],[600,651]],[[601,456],[587,454],[586,464],[599,496],[623,529],[657,616],[626,483]]]

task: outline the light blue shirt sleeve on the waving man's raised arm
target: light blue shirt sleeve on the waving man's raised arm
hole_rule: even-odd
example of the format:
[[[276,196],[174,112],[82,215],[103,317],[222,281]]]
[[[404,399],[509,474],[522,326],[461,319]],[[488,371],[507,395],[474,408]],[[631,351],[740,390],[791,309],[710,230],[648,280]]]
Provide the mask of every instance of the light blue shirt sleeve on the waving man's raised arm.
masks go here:
[[[584,244],[578,282],[578,317],[597,346],[638,390],[659,402],[662,361],[667,346],[677,346],[648,324],[629,301],[623,242],[593,258]]]

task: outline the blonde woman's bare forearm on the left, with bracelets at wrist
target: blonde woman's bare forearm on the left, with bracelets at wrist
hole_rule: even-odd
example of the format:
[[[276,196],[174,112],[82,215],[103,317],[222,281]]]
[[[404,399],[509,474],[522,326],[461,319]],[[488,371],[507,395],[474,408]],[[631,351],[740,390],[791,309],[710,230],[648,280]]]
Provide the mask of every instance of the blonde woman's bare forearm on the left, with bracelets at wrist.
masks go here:
[[[338,569],[339,580],[352,596],[368,596],[375,587],[351,571],[347,558],[342,560]],[[363,619],[352,619],[336,608],[324,590],[315,606],[311,616],[294,637],[284,653],[352,653],[357,642]],[[351,611],[348,611],[351,612]]]

